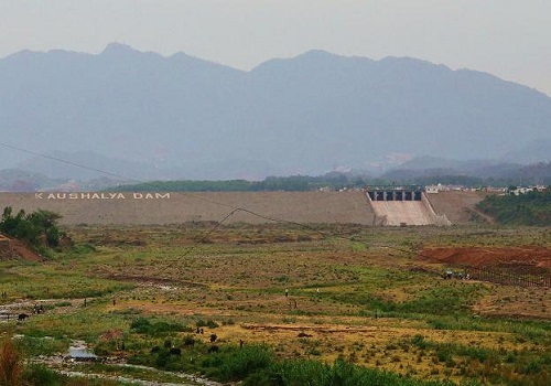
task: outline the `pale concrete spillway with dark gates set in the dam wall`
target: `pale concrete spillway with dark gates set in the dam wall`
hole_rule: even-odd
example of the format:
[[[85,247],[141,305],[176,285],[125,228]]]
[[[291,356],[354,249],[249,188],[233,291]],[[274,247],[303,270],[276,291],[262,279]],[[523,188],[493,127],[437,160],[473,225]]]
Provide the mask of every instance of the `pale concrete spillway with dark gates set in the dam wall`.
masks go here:
[[[376,226],[400,226],[400,225],[451,225],[444,216],[434,213],[431,203],[424,193],[418,192],[411,195],[412,200],[386,200],[387,194],[374,196],[367,195],[375,212]],[[378,200],[379,199],[379,200]],[[381,200],[382,199],[382,200]]]

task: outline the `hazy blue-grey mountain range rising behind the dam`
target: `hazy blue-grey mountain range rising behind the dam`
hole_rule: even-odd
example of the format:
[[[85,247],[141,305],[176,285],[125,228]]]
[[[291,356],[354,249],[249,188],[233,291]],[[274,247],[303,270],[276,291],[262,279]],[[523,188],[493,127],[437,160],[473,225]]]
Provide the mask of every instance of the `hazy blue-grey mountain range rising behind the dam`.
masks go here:
[[[244,72],[112,43],[0,60],[0,169],[52,179],[380,174],[419,157],[549,161],[551,98],[408,57],[311,51]]]

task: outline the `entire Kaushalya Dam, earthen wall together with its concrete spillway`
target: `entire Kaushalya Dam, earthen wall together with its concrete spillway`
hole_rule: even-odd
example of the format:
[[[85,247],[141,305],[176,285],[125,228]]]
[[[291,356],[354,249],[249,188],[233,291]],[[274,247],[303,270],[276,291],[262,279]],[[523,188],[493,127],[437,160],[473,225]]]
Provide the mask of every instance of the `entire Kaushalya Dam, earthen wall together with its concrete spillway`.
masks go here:
[[[272,221],[369,226],[467,224],[480,192],[443,192],[407,200],[399,193],[366,192],[220,193],[0,193],[0,211],[11,206],[62,215],[62,225],[165,225],[188,222],[261,224]],[[388,193],[390,194],[390,193]],[[372,194],[371,194],[372,195]],[[390,197],[390,200],[388,200]],[[374,203],[378,201],[378,203]]]

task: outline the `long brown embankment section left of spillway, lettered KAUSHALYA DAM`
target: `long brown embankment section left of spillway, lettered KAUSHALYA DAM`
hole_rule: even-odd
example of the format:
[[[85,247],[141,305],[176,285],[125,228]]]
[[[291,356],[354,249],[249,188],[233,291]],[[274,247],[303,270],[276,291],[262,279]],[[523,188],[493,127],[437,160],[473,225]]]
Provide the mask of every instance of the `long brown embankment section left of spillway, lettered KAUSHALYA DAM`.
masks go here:
[[[62,215],[62,225],[164,225],[187,222],[343,223],[372,225],[364,192],[0,193],[11,206]],[[235,212],[234,212],[235,211]]]

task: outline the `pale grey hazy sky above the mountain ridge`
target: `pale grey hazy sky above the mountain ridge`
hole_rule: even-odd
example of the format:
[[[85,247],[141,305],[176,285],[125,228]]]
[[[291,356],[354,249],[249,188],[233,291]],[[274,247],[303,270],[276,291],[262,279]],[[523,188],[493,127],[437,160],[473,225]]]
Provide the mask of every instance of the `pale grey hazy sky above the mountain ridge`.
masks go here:
[[[241,69],[313,49],[412,56],[551,95],[550,0],[0,0],[0,57],[115,41]]]

